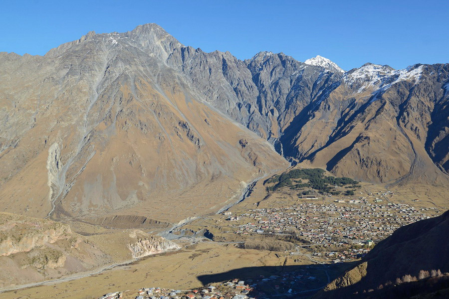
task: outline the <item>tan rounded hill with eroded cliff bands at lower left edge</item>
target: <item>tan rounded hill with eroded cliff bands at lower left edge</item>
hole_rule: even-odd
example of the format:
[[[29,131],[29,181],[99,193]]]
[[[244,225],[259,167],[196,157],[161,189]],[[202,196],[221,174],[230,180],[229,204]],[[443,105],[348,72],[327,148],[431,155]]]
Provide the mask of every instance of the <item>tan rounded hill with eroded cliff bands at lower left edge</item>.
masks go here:
[[[66,224],[0,213],[0,287],[57,278],[111,261]]]

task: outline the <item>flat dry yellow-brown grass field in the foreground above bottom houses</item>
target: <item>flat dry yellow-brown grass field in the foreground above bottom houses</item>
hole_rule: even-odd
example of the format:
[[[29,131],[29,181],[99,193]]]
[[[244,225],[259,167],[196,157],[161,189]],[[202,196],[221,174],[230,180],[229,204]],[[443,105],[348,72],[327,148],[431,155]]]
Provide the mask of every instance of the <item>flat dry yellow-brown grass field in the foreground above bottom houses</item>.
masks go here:
[[[273,252],[244,250],[233,244],[200,242],[176,252],[149,256],[101,274],[6,292],[0,296],[2,299],[90,299],[99,298],[109,292],[141,287],[157,286],[186,290],[203,285],[198,279],[199,276],[220,274],[245,267],[279,266],[280,269],[283,263],[284,259],[278,259]],[[287,265],[293,264],[310,264],[310,261],[306,258],[297,263],[293,260],[287,261]],[[240,277],[258,276],[263,273],[258,268],[253,269],[257,273],[244,271]]]

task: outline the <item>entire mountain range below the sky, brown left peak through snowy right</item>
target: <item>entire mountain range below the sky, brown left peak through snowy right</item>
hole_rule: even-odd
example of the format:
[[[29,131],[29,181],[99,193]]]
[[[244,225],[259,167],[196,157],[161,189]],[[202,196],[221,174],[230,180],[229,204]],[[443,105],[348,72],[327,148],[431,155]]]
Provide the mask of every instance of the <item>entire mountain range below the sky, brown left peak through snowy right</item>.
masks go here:
[[[270,52],[241,61],[156,24],[89,32],[44,56],[0,53],[0,202],[39,217],[177,222],[285,168],[274,149],[339,176],[444,184],[448,74],[343,73]]]

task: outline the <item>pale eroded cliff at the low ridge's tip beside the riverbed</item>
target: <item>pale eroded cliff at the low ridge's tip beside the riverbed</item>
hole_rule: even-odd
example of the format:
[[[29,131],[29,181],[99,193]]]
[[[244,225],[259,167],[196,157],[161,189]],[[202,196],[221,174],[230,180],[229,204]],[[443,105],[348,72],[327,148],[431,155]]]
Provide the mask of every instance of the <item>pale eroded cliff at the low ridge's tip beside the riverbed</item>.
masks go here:
[[[133,258],[141,258],[152,254],[177,250],[181,247],[165,238],[148,235],[140,230],[133,230],[129,236],[135,242],[129,243],[128,248]]]

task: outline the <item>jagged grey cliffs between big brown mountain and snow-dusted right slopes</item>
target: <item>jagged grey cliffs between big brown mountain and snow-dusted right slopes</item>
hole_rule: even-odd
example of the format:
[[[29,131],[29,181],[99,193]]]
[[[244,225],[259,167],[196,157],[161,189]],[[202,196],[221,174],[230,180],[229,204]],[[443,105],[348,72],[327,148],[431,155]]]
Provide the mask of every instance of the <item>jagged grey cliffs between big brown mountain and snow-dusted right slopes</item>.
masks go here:
[[[241,61],[229,52],[182,47],[175,49],[168,63],[182,71],[209,103],[270,141],[280,153],[285,153],[279,141],[285,127],[339,77],[321,66],[271,52]]]

